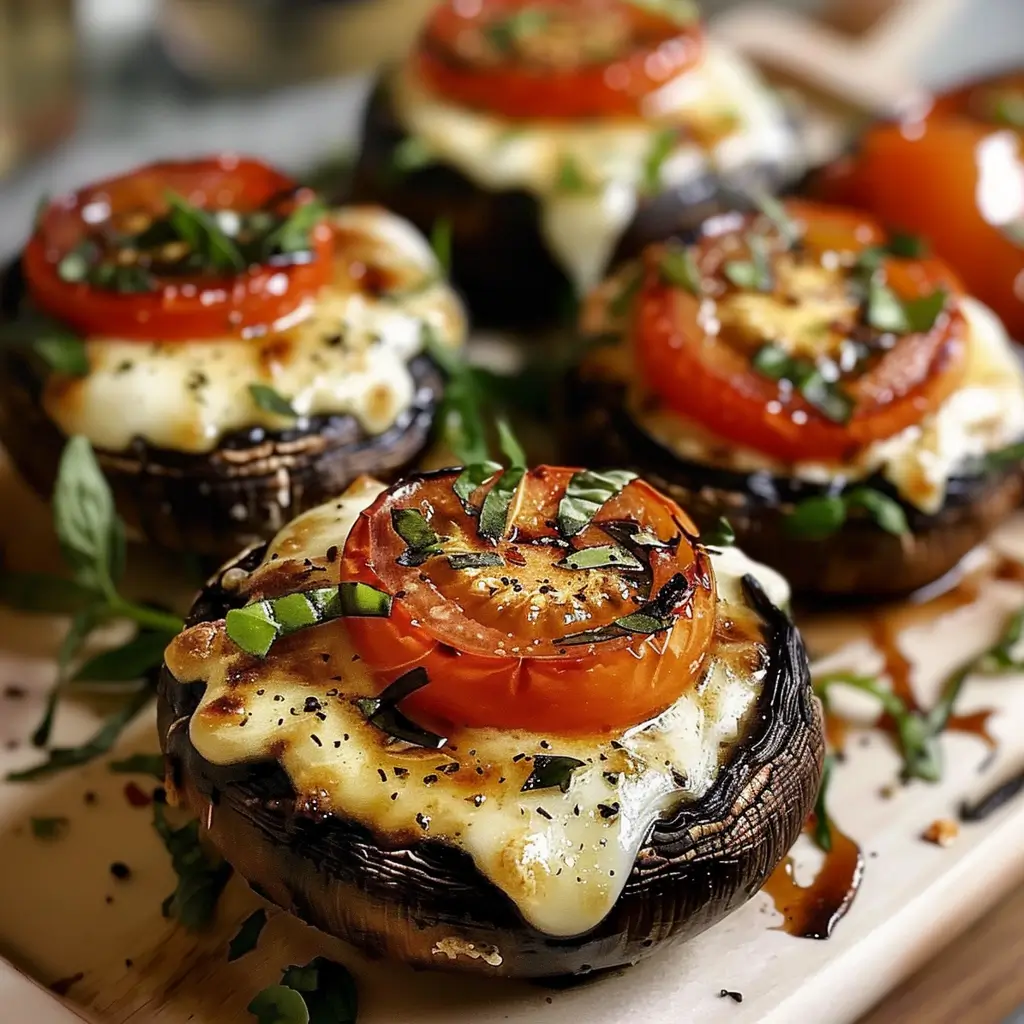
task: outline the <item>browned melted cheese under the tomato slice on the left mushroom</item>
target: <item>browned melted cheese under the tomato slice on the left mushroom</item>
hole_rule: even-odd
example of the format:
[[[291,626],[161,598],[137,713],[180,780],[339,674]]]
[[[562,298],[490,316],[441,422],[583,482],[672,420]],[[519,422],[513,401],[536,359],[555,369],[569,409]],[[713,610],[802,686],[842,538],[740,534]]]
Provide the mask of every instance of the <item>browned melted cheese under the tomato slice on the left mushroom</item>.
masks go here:
[[[138,342],[92,337],[89,373],[48,380],[43,407],[65,434],[124,451],[135,438],[201,453],[231,431],[281,430],[302,418],[348,414],[383,433],[415,397],[409,361],[423,325],[458,345],[465,319],[430,247],[408,223],[375,207],[332,214],[336,273],[314,301],[262,337]],[[364,285],[372,271],[388,294]],[[261,408],[249,386],[291,401],[298,424]]]

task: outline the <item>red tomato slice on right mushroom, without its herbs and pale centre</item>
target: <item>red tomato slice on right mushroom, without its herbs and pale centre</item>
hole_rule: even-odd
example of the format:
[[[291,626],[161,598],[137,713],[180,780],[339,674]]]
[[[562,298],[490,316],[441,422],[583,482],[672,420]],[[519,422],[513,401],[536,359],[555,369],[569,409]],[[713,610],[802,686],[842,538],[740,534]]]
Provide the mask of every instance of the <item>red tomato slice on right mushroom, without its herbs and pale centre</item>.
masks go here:
[[[849,417],[837,422],[808,401],[786,381],[759,372],[751,341],[740,339],[723,319],[723,303],[743,289],[727,276],[732,260],[751,258],[751,232],[780,260],[798,267],[839,267],[839,287],[855,270],[865,248],[885,240],[869,218],[835,207],[792,201],[790,217],[802,228],[802,241],[785,253],[778,231],[756,215],[717,218],[706,226],[692,254],[700,269],[703,294],[670,284],[662,270],[666,250],[645,254],[645,274],[634,306],[634,349],[646,386],[670,409],[702,424],[718,437],[735,441],[787,463],[804,460],[842,462],[859,449],[919,423],[963,379],[966,328],[955,296],[953,274],[936,260],[886,258],[885,283],[901,300],[944,289],[951,298],[931,330],[904,335],[868,327],[856,311],[849,323],[824,325],[837,338],[858,340],[869,353],[850,372],[841,372],[836,387],[849,402]],[[852,283],[851,283],[852,287]],[[777,280],[768,294],[797,307],[800,296],[780,292]],[[764,344],[773,342],[764,337]]]

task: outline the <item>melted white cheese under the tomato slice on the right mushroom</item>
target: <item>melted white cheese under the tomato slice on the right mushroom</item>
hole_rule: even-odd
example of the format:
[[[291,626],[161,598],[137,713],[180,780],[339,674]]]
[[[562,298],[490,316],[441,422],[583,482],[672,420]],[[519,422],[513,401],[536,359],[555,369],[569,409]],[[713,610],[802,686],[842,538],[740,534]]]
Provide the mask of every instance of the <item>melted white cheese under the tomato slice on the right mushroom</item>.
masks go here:
[[[964,383],[920,424],[869,444],[842,466],[787,465],[724,442],[664,407],[652,408],[638,387],[631,395],[631,415],[659,444],[690,462],[822,483],[881,473],[905,501],[923,512],[937,512],[950,476],[966,462],[1024,437],[1024,370],[1013,344],[987,306],[974,299],[962,301],[970,331]]]

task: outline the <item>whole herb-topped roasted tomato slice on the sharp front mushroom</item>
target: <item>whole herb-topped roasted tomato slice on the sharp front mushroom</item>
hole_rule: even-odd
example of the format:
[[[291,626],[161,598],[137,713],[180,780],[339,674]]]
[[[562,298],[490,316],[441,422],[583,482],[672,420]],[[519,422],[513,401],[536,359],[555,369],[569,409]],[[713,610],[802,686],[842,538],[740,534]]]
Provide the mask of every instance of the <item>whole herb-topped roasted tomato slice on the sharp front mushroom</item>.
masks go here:
[[[356,651],[382,684],[426,669],[402,710],[428,724],[580,733],[652,718],[699,678],[715,627],[692,522],[632,474],[519,475],[421,476],[362,513],[342,579],[394,599],[387,618],[347,621]]]

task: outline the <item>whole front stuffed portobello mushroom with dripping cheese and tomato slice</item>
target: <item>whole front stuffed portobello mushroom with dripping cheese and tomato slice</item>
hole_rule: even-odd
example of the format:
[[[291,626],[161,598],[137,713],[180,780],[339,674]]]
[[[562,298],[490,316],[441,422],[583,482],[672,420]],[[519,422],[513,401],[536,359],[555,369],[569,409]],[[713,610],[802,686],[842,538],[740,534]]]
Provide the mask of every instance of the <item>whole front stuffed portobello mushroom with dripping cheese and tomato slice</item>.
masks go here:
[[[160,687],[170,792],[381,954],[629,964],[749,899],[811,810],[787,597],[629,472],[362,479],[200,596]]]

